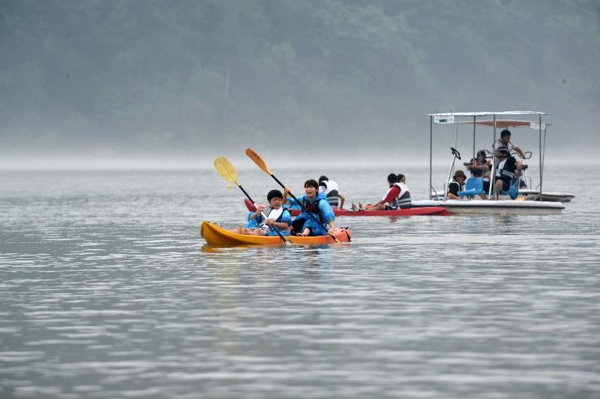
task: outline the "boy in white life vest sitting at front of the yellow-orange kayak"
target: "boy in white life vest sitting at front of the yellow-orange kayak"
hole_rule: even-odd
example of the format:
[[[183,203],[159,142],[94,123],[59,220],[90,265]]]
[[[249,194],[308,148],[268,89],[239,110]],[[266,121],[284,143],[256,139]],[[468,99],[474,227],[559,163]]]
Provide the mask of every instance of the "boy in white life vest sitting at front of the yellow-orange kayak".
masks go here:
[[[248,224],[245,229],[240,227],[235,232],[255,236],[276,236],[277,232],[274,230],[276,228],[282,236],[289,236],[292,215],[289,210],[283,208],[283,194],[279,190],[271,190],[267,194],[267,201],[269,201],[269,205],[264,208],[259,205],[255,213],[248,215]],[[261,213],[267,216],[267,220],[264,220]]]

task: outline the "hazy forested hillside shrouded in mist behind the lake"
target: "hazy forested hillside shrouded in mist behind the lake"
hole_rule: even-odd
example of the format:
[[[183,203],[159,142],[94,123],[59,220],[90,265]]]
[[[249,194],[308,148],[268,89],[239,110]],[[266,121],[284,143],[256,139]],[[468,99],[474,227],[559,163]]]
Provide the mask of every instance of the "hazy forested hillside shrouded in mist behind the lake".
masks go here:
[[[1,0],[0,152],[381,146],[450,110],[585,129],[599,21],[593,0]]]

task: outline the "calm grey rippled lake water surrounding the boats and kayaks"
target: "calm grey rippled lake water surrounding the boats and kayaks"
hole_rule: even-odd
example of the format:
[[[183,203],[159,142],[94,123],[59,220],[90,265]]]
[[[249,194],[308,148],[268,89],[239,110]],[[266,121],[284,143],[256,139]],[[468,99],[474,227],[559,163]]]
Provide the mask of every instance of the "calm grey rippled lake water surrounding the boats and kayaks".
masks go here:
[[[273,171],[296,195],[325,172],[348,203],[389,172],[416,199],[429,182]],[[247,215],[212,169],[1,171],[0,397],[599,398],[600,188],[546,174],[576,194],[562,215],[346,217],[349,244],[210,248],[202,220]]]

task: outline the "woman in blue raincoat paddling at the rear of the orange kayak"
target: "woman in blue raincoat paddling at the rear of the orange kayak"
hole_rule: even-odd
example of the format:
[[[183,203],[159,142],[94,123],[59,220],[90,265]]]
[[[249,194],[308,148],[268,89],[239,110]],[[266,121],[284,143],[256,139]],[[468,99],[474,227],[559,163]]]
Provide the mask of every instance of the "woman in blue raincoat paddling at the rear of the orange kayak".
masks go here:
[[[304,205],[315,219],[326,226],[329,225],[329,231],[326,231],[321,227],[321,224],[310,217],[306,210],[302,210],[302,213],[292,222],[293,231],[297,236],[324,236],[325,234],[333,236],[333,229],[335,228],[334,220],[336,220],[336,217],[333,215],[333,209],[327,202],[325,194],[319,194],[319,183],[317,183],[317,180],[307,180],[304,183],[304,191],[305,195],[299,196],[298,201]],[[288,200],[289,192],[290,189],[286,187],[283,191],[283,203],[295,204],[296,201],[293,198]]]

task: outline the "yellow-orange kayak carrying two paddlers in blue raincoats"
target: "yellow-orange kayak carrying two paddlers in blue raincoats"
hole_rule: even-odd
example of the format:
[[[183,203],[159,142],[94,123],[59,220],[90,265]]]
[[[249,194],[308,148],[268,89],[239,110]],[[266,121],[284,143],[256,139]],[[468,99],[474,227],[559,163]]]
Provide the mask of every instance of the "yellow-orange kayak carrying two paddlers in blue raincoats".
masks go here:
[[[335,229],[336,239],[340,242],[350,241],[350,230]],[[200,235],[212,245],[277,245],[282,244],[279,236],[253,236],[247,234],[239,234],[229,232],[228,230],[219,227],[218,225],[204,221],[200,227]],[[299,244],[314,244],[314,243],[335,243],[330,236],[314,236],[314,237],[297,237],[285,236],[290,243]]]

